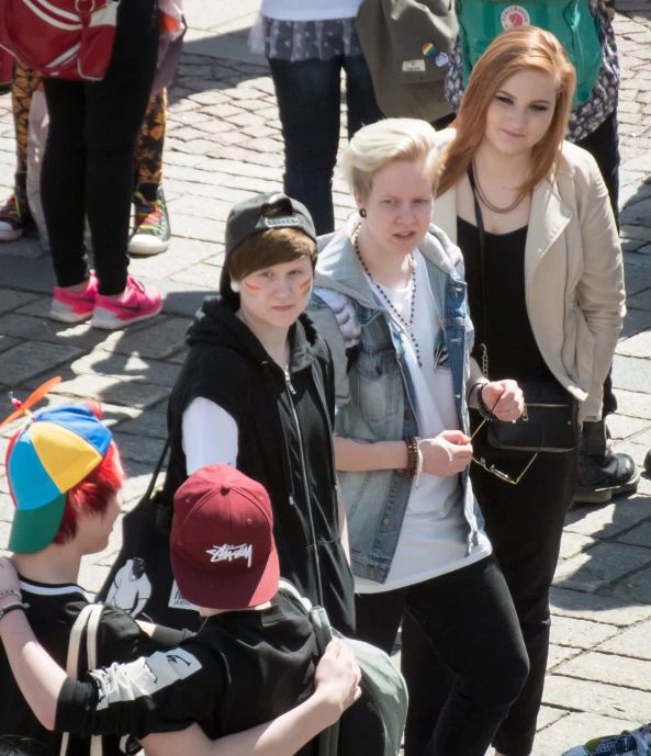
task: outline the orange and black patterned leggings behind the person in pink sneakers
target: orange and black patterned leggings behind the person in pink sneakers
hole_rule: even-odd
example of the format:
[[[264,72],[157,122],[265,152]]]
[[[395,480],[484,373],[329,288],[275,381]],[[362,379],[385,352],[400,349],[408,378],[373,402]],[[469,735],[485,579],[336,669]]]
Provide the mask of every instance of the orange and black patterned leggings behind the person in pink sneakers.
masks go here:
[[[27,170],[27,133],[32,94],[43,91],[40,74],[14,61],[11,102],[15,123],[16,172]],[[167,123],[167,89],[149,99],[145,121],[138,135],[134,165],[134,187],[141,181],[162,181],[162,146]]]

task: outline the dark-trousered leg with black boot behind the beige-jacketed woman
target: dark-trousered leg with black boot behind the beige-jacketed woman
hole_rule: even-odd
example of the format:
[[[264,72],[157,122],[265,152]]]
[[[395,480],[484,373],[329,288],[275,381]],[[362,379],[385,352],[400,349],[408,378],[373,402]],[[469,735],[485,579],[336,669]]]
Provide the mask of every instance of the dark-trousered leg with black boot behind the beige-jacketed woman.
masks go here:
[[[611,113],[601,126],[584,139],[576,143],[596,160],[608,195],[610,206],[619,227],[619,137],[617,134],[617,113]],[[579,485],[574,501],[599,504],[609,501],[613,496],[635,492],[640,479],[640,471],[632,458],[621,452],[615,453],[608,444],[606,417],[617,410],[617,399],[613,392],[613,369],[604,383],[602,419],[598,422],[584,422],[581,439]]]

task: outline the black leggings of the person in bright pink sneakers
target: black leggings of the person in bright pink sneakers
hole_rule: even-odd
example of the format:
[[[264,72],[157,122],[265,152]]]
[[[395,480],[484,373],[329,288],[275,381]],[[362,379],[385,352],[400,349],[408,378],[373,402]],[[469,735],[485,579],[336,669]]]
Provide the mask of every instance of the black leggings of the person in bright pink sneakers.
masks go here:
[[[45,79],[49,133],[41,193],[57,284],[89,277],[88,216],[100,294],[126,286],[133,165],[158,54],[156,0],[123,0],[102,81]]]

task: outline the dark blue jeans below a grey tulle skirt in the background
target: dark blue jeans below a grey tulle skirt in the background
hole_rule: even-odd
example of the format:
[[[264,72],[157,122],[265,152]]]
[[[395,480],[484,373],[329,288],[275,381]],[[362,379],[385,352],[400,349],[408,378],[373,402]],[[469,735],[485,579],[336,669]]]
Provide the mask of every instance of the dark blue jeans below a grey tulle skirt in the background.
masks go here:
[[[346,71],[348,137],[383,117],[362,57],[299,63],[269,59],[284,138],[284,191],[302,202],[317,234],[335,230],[333,172],[341,120],[341,69]]]

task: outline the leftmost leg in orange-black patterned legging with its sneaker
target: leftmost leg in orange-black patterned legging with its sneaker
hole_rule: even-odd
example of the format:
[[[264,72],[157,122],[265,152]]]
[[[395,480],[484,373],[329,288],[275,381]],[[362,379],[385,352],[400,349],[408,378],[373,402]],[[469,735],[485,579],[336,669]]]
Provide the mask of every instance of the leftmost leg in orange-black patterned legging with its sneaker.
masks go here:
[[[13,63],[11,78],[11,105],[15,126],[15,179],[9,200],[0,206],[0,241],[19,239],[32,224],[27,204],[27,133],[32,94],[43,90],[41,76],[25,68],[19,60]]]

